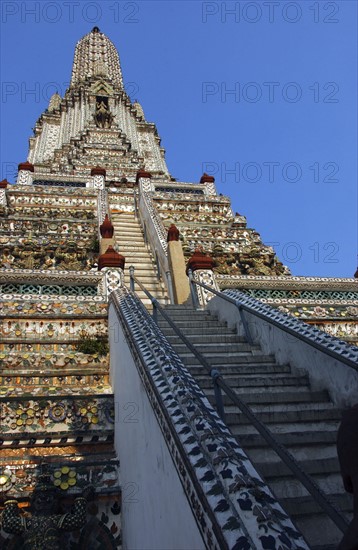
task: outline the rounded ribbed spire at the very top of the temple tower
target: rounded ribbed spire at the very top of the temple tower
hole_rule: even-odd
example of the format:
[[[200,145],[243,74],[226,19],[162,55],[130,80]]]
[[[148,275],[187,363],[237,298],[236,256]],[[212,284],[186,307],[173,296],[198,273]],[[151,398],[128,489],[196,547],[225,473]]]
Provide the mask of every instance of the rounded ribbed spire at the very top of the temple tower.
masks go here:
[[[90,77],[104,77],[111,81],[114,88],[123,88],[118,52],[98,27],[94,27],[76,45],[71,87],[83,84]]]

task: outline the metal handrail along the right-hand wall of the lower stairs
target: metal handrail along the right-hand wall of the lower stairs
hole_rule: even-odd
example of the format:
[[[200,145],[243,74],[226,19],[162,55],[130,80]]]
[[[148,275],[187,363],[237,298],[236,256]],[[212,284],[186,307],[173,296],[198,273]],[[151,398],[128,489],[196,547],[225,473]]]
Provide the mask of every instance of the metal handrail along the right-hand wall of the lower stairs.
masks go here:
[[[250,331],[249,331],[247,321],[245,320],[245,317],[243,316],[243,311],[247,311],[248,313],[251,313],[252,315],[256,315],[256,317],[259,317],[260,319],[263,319],[263,320],[269,322],[270,324],[284,330],[288,334],[291,334],[292,336],[295,336],[299,340],[302,340],[306,344],[310,344],[311,346],[315,347],[319,351],[322,351],[323,353],[326,353],[327,355],[330,355],[334,359],[337,359],[338,361],[341,361],[342,363],[345,363],[349,367],[351,367],[354,370],[358,371],[357,363],[354,362],[349,357],[345,357],[344,355],[341,355],[340,353],[337,353],[335,350],[327,348],[326,346],[324,346],[320,342],[315,342],[309,336],[305,336],[304,334],[299,334],[296,330],[283,325],[282,323],[280,323],[279,321],[276,321],[275,319],[268,318],[264,313],[260,313],[259,311],[255,311],[250,306],[247,306],[246,304],[242,304],[239,300],[235,300],[234,298],[230,298],[230,296],[226,296],[226,294],[224,294],[223,292],[217,291],[215,288],[213,288],[211,286],[208,286],[204,283],[196,281],[192,277],[192,274],[190,272],[189,272],[189,280],[190,280],[191,288],[192,288],[192,285],[201,286],[201,287],[205,288],[205,290],[209,290],[210,292],[212,292],[216,296],[219,296],[219,298],[222,298],[223,300],[226,300],[227,302],[230,302],[231,304],[235,305],[239,309],[240,315],[241,315],[241,320],[242,320],[243,326],[244,326],[245,336],[246,336],[246,338],[247,338],[247,340],[250,344],[253,343],[253,341],[252,341],[252,337],[251,337],[251,334],[250,334]]]

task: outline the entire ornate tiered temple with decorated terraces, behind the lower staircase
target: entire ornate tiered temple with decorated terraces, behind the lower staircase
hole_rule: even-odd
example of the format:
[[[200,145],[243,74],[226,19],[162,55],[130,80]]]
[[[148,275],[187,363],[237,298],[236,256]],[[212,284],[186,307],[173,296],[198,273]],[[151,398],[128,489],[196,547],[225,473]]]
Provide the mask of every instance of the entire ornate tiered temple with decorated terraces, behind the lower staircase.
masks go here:
[[[91,486],[80,530],[62,536],[74,548],[118,548],[114,432],[136,410],[113,394],[108,298],[129,286],[129,267],[162,304],[190,302],[189,265],[217,290],[240,289],[352,342],[356,285],[290,277],[212,176],[176,181],[98,27],[78,42],[70,86],[36,122],[15,183],[0,182],[0,505],[16,499],[26,515],[36,491],[56,491],[65,512]],[[10,539],[1,532],[4,548]]]

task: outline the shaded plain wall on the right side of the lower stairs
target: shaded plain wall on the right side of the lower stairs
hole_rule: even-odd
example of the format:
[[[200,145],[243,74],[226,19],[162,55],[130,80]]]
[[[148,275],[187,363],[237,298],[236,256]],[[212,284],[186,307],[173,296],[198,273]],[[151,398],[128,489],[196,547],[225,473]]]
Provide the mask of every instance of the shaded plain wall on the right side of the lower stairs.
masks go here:
[[[213,298],[208,309],[244,336],[239,310],[220,297]],[[345,363],[288,334],[283,329],[244,312],[251,336],[264,353],[274,354],[279,364],[289,363],[293,371],[308,373],[313,389],[327,389],[339,407],[358,402],[358,373]]]

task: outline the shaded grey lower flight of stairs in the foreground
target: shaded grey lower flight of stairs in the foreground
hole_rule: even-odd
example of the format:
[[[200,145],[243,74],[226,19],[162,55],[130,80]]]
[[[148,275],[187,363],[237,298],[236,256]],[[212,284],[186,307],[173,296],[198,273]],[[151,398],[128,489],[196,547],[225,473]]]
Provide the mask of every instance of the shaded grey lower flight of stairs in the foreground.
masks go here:
[[[341,413],[328,393],[312,391],[306,375],[293,374],[289,365],[278,365],[274,356],[264,355],[259,346],[248,344],[209,312],[183,306],[168,306],[166,311],[330,501],[351,519],[352,501],[344,492],[336,453]],[[160,315],[158,324],[214,405],[213,383],[207,371]],[[223,400],[227,425],[310,547],[336,548],[341,532],[225,394]]]

